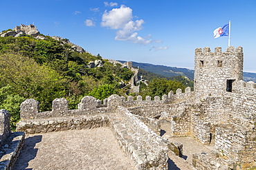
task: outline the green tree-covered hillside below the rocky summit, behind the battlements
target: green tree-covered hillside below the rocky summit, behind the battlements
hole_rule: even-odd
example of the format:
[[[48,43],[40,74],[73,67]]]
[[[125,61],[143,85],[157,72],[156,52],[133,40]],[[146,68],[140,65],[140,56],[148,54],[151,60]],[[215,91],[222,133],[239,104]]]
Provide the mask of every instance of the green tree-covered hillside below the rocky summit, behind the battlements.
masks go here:
[[[44,39],[27,34],[0,37],[0,109],[10,111],[12,129],[19,121],[19,105],[26,98],[39,101],[40,111],[46,111],[51,110],[55,98],[66,98],[69,109],[75,109],[86,95],[100,100],[111,94],[138,95],[129,94],[133,72],[128,68],[109,63],[100,54],[76,52],[68,39],[40,36]],[[89,67],[95,60],[102,65]],[[141,83],[140,95],[161,96],[186,86],[152,76],[148,86]]]

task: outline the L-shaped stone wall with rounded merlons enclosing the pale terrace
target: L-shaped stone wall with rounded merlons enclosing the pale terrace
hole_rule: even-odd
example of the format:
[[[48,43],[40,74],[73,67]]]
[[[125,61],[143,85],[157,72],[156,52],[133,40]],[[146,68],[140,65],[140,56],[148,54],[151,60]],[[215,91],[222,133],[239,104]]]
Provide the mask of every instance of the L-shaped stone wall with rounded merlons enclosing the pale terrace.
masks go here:
[[[125,107],[118,105],[120,98],[118,95],[110,96],[108,102],[105,100],[106,107],[98,105],[99,100],[92,96],[85,96],[76,110],[68,110],[66,99],[56,98],[52,111],[44,112],[38,111],[36,100],[27,99],[21,103],[22,119],[17,123],[17,130],[34,134],[111,127],[121,147],[136,162],[138,169],[167,169],[167,145],[170,143]]]

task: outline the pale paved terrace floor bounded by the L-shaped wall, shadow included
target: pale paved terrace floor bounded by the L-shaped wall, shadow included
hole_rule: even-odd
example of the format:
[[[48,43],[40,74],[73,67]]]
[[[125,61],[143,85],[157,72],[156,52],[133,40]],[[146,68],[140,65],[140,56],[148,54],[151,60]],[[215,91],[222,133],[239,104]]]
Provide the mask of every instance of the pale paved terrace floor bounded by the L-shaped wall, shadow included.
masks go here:
[[[15,164],[21,169],[135,169],[111,129],[27,134]]]

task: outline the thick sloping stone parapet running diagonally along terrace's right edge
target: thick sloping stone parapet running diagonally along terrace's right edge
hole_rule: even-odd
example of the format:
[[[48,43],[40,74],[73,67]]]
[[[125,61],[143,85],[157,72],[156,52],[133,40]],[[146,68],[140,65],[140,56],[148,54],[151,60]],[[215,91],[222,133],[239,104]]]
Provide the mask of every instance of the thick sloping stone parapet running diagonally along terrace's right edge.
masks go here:
[[[168,169],[168,145],[124,107],[118,107],[111,126],[125,152],[138,169]]]

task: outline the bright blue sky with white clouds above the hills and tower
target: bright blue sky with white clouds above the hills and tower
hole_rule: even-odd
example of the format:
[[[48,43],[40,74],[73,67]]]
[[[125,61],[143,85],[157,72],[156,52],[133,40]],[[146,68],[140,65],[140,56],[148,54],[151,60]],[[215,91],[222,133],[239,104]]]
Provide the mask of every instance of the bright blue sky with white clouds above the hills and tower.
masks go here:
[[[213,30],[231,21],[230,45],[244,47],[244,71],[256,72],[255,0],[2,0],[0,31],[35,23],[107,59],[194,68],[196,47],[228,47]]]

